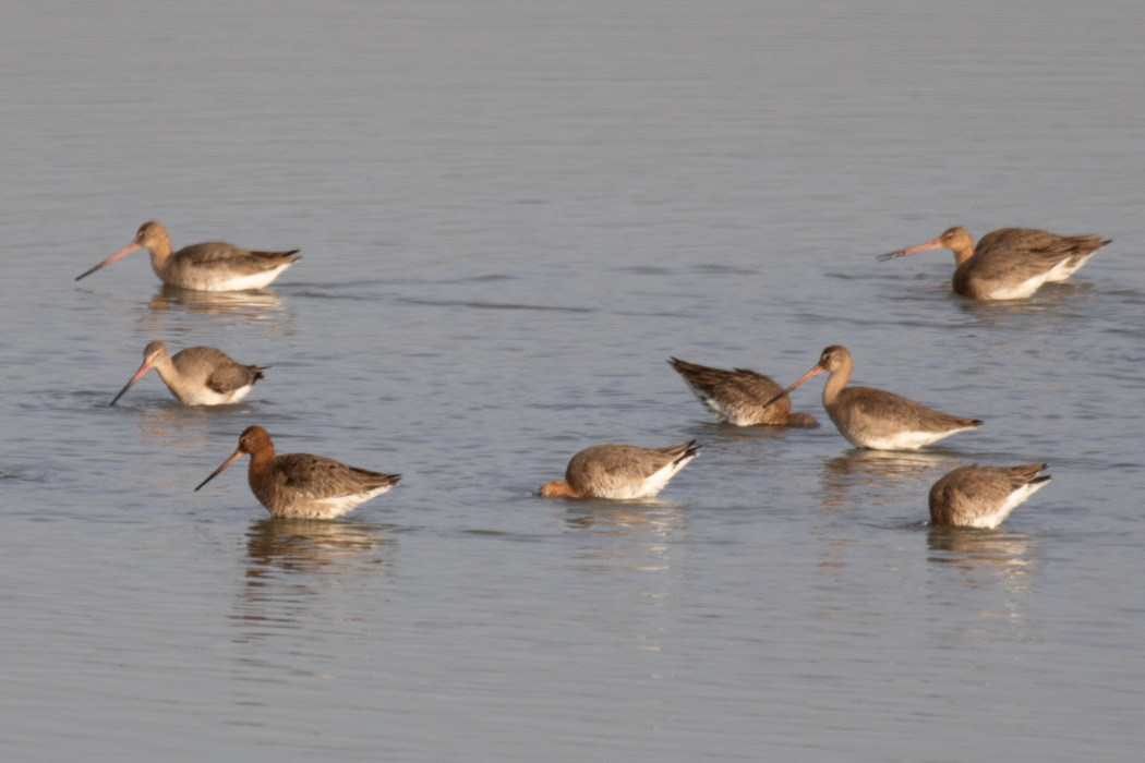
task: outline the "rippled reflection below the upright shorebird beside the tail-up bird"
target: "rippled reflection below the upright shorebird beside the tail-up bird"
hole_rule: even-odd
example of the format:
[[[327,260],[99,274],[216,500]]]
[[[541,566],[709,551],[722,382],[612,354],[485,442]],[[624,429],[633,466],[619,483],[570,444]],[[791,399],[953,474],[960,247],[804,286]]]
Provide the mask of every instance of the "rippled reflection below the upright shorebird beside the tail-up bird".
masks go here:
[[[855,503],[901,503],[903,490],[930,487],[943,470],[962,466],[964,455],[942,451],[868,451],[853,448],[823,462],[820,484],[823,507],[840,509]],[[925,508],[925,491],[922,492]],[[924,512],[925,514],[925,512]]]

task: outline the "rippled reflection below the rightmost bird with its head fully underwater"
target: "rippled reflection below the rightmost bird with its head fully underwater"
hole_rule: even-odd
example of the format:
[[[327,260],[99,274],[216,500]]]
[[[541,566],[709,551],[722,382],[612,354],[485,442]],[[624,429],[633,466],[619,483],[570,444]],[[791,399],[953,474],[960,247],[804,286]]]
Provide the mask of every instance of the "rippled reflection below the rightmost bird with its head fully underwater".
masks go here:
[[[927,561],[963,573],[972,588],[1004,581],[1016,591],[1028,590],[1025,581],[1033,563],[1034,541],[1008,530],[931,527],[926,535]]]

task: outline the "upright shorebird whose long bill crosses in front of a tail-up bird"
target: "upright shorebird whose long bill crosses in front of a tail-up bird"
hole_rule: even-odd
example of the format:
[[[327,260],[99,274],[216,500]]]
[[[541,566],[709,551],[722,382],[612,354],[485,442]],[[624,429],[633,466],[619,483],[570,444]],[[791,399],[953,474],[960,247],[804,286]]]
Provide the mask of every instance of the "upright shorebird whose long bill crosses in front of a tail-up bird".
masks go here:
[[[847,387],[854,367],[847,348],[838,344],[823,350],[819,363],[797,382],[768,400],[771,405],[812,376],[830,372],[823,384],[823,407],[839,434],[855,447],[876,451],[914,451],[982,422],[932,411],[893,392],[870,387]]]

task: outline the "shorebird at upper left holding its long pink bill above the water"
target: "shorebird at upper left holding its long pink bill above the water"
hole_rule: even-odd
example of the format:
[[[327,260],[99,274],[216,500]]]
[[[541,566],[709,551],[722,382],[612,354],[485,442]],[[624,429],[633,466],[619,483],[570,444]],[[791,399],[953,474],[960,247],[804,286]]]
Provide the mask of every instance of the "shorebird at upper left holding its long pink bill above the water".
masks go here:
[[[192,244],[179,252],[171,247],[167,229],[157,222],[140,225],[135,239],[82,276],[110,265],[116,260],[144,248],[151,252],[155,275],[168,286],[199,292],[242,292],[262,288],[300,259],[290,252],[247,252],[222,241]]]

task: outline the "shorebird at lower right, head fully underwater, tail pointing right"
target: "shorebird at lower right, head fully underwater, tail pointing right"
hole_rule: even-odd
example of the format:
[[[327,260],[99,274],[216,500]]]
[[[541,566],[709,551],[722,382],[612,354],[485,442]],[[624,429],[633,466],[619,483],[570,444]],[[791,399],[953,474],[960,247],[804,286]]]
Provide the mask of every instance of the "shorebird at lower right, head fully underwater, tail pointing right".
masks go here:
[[[955,469],[931,487],[931,524],[997,527],[1013,507],[1050,482],[1050,475],[1039,477],[1043,469],[1044,463]]]

